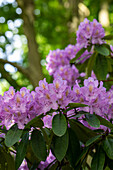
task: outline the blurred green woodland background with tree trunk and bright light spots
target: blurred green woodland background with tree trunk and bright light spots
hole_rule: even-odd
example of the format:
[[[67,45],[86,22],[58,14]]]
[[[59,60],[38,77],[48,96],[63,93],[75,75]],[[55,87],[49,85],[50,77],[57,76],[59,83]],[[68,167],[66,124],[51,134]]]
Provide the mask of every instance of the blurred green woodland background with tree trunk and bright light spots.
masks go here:
[[[0,93],[9,86],[32,90],[43,77],[51,81],[47,54],[75,44],[86,17],[96,18],[106,34],[113,33],[112,0],[1,0]]]

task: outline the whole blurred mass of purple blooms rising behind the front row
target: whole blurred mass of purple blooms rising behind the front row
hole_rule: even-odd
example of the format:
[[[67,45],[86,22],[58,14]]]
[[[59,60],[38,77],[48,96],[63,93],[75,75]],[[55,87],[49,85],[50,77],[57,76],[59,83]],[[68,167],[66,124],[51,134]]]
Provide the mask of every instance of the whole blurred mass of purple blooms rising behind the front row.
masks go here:
[[[102,39],[104,36],[104,29],[96,19],[94,19],[93,22],[90,22],[85,18],[84,21],[80,23],[77,31],[77,44],[70,44],[64,50],[57,49],[50,51],[48,54],[46,58],[46,68],[49,71],[49,74],[53,75],[54,78],[61,76],[62,79],[67,80],[68,85],[73,86],[75,80],[77,80],[81,74],[75,65],[70,65],[70,60],[73,59],[77,52],[83,47],[87,48],[89,45],[105,43]],[[92,53],[93,47],[90,52],[86,49],[76,62],[79,64],[84,63]]]

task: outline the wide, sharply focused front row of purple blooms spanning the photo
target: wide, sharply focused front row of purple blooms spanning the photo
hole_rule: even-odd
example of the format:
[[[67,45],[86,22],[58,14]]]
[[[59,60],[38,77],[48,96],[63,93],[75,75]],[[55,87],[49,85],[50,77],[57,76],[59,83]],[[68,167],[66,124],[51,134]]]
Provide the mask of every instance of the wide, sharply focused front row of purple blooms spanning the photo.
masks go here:
[[[79,108],[96,113],[108,119],[113,119],[113,88],[106,92],[103,82],[92,77],[84,80],[84,86],[80,87],[78,82],[73,89],[61,77],[54,79],[48,84],[46,79],[39,82],[39,87],[30,93],[25,87],[15,92],[13,87],[0,96],[0,120],[1,125],[7,128],[17,123],[23,129],[31,119],[39,114],[46,114],[51,109],[66,109],[69,103],[82,103],[87,107]],[[52,116],[56,114],[51,114]],[[68,114],[75,114],[73,111]],[[50,115],[44,117],[46,127],[51,127],[52,118]]]

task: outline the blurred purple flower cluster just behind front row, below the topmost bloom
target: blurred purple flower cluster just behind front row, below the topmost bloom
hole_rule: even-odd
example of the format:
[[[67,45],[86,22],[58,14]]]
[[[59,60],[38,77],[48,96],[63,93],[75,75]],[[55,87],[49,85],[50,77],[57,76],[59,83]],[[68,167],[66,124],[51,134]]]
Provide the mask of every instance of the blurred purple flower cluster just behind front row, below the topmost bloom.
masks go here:
[[[66,80],[68,85],[73,86],[75,81],[82,74],[79,73],[75,65],[70,65],[70,60],[76,56],[76,53],[80,50],[78,44],[68,45],[64,50],[54,50],[50,51],[46,61],[46,68],[49,71],[50,75],[53,75],[54,78],[60,76],[63,80]],[[79,57],[79,63],[83,63],[86,59],[91,56],[92,52],[87,50]]]

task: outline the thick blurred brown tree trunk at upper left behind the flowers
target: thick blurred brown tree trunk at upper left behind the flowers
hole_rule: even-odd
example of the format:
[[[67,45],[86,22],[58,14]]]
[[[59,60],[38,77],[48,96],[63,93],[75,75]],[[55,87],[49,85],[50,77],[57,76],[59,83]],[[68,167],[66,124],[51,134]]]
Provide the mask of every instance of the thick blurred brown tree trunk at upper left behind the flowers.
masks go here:
[[[43,79],[42,68],[40,64],[40,55],[36,42],[34,29],[34,1],[17,0],[19,7],[22,9],[22,19],[24,34],[28,41],[28,74],[29,79],[34,87],[38,85],[40,79]]]

